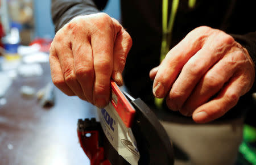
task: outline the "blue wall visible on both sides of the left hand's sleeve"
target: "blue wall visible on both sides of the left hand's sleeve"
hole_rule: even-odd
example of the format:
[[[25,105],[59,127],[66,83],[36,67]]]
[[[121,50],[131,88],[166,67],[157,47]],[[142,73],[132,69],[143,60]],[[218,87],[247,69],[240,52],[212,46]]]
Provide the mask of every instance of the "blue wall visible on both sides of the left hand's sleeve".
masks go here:
[[[51,20],[51,0],[34,0],[35,37],[53,38],[54,26]],[[113,18],[120,20],[119,0],[109,0],[102,12],[108,13]]]

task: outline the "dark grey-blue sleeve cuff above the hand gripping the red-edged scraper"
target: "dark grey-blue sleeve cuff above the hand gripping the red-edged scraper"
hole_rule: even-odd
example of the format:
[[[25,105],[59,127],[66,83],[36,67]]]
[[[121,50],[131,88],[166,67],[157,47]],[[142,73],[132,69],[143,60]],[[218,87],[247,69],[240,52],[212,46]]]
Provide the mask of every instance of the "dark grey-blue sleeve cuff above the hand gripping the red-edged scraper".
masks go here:
[[[100,12],[108,0],[52,0],[51,12],[55,32],[78,15]]]

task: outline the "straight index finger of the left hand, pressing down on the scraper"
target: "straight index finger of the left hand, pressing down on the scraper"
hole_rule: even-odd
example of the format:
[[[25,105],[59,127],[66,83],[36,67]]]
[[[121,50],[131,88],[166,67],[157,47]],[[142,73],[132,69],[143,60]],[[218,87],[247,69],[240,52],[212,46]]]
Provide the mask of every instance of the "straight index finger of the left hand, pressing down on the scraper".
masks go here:
[[[110,98],[114,35],[113,27],[106,23],[105,27],[98,29],[91,38],[95,73],[93,101],[97,107],[104,107]]]

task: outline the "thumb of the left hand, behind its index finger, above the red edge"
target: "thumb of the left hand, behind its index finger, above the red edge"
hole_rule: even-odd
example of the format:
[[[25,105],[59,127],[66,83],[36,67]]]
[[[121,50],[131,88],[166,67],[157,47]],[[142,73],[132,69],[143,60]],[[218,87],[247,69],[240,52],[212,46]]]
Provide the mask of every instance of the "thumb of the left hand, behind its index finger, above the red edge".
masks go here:
[[[118,86],[122,86],[123,84],[122,72],[125,67],[127,54],[130,51],[132,44],[133,41],[131,40],[129,33],[122,28],[115,38],[113,52],[112,79],[118,84]]]

